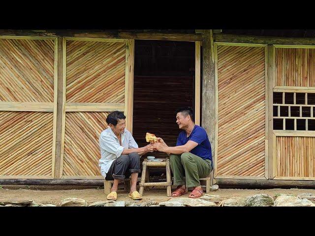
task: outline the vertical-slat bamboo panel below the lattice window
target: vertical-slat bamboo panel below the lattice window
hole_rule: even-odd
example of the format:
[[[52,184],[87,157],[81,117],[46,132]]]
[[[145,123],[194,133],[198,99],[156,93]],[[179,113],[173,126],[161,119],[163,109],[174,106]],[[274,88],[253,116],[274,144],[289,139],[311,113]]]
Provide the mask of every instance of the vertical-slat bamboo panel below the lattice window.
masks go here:
[[[315,177],[315,137],[277,136],[277,176]]]

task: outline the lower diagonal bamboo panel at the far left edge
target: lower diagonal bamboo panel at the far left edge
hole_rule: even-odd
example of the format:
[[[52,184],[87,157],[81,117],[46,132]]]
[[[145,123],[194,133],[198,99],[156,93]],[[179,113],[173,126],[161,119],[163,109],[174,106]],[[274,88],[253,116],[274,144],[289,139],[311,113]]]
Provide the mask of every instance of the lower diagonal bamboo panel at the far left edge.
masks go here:
[[[0,112],[0,176],[51,176],[53,113]]]

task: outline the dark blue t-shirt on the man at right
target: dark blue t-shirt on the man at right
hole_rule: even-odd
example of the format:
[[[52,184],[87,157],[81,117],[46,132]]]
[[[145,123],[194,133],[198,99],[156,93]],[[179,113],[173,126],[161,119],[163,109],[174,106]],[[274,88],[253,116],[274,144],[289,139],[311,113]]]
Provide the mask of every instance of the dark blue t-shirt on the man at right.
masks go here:
[[[189,140],[198,144],[195,148],[190,150],[190,153],[195,154],[204,160],[211,160],[211,165],[213,165],[211,144],[206,130],[199,125],[195,125],[188,137],[185,130],[183,130],[178,135],[176,146],[185,145]]]

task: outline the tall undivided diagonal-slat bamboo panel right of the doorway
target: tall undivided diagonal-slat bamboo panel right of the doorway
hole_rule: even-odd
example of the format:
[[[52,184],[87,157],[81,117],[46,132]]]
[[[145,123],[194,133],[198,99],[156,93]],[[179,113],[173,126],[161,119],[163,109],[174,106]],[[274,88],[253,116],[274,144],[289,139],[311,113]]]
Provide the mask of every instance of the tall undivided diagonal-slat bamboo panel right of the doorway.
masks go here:
[[[218,175],[263,177],[263,47],[218,46]]]

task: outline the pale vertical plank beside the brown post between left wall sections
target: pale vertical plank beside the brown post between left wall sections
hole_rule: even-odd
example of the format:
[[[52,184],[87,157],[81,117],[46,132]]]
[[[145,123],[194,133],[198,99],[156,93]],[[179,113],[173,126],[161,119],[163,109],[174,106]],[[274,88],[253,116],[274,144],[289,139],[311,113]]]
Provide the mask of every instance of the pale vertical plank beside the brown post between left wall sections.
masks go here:
[[[63,38],[63,86],[62,86],[62,131],[61,131],[61,158],[60,158],[60,174],[59,178],[63,176],[63,156],[64,156],[64,135],[65,135],[65,94],[66,94],[66,40]]]

